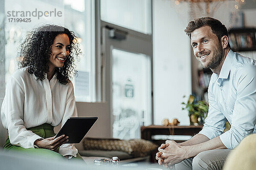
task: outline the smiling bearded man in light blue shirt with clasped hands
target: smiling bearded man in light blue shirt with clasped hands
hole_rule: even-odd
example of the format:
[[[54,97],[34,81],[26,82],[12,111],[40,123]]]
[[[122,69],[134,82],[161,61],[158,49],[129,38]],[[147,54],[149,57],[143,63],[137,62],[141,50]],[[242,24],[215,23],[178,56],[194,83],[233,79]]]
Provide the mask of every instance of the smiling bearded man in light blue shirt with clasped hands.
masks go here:
[[[230,151],[256,133],[256,60],[230,50],[227,28],[214,18],[195,19],[185,32],[196,59],[213,72],[208,116],[192,139],[162,144],[156,159],[176,170],[221,170]],[[231,128],[223,133],[227,121]]]

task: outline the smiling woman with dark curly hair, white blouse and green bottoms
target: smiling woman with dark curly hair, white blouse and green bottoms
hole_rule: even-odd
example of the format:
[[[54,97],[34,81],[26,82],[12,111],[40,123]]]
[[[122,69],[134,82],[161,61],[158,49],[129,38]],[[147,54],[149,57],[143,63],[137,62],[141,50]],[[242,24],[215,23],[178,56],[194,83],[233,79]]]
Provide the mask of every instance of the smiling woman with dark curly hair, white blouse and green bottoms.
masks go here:
[[[80,54],[73,31],[46,25],[29,32],[20,45],[19,66],[6,85],[1,118],[8,130],[4,151],[48,158],[82,159],[68,136],[54,139],[53,127],[77,116],[74,56]]]

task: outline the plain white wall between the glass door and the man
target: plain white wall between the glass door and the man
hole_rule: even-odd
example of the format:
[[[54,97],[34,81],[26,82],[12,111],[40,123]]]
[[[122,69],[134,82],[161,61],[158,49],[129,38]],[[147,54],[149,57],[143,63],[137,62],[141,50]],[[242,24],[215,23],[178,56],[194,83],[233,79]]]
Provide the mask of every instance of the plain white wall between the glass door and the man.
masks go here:
[[[177,118],[189,125],[182,111],[184,95],[191,94],[189,38],[184,32],[187,13],[177,13],[171,0],[153,0],[154,124]],[[185,15],[184,15],[185,14]]]

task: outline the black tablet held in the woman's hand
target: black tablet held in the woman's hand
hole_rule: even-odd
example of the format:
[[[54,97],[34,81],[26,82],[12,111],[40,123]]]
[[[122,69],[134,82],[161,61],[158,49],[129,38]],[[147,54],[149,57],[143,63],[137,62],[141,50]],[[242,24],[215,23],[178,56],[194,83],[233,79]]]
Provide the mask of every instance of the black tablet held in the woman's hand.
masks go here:
[[[68,144],[80,143],[98,117],[70,117],[55,136],[68,136]]]

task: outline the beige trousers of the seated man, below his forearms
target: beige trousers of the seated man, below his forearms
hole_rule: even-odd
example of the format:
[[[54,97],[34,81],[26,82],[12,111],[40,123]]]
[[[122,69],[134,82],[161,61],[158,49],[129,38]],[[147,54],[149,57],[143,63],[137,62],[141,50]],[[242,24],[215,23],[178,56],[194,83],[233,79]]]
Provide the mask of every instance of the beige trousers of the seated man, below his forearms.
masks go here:
[[[230,149],[207,150],[175,164],[176,170],[221,170]]]

